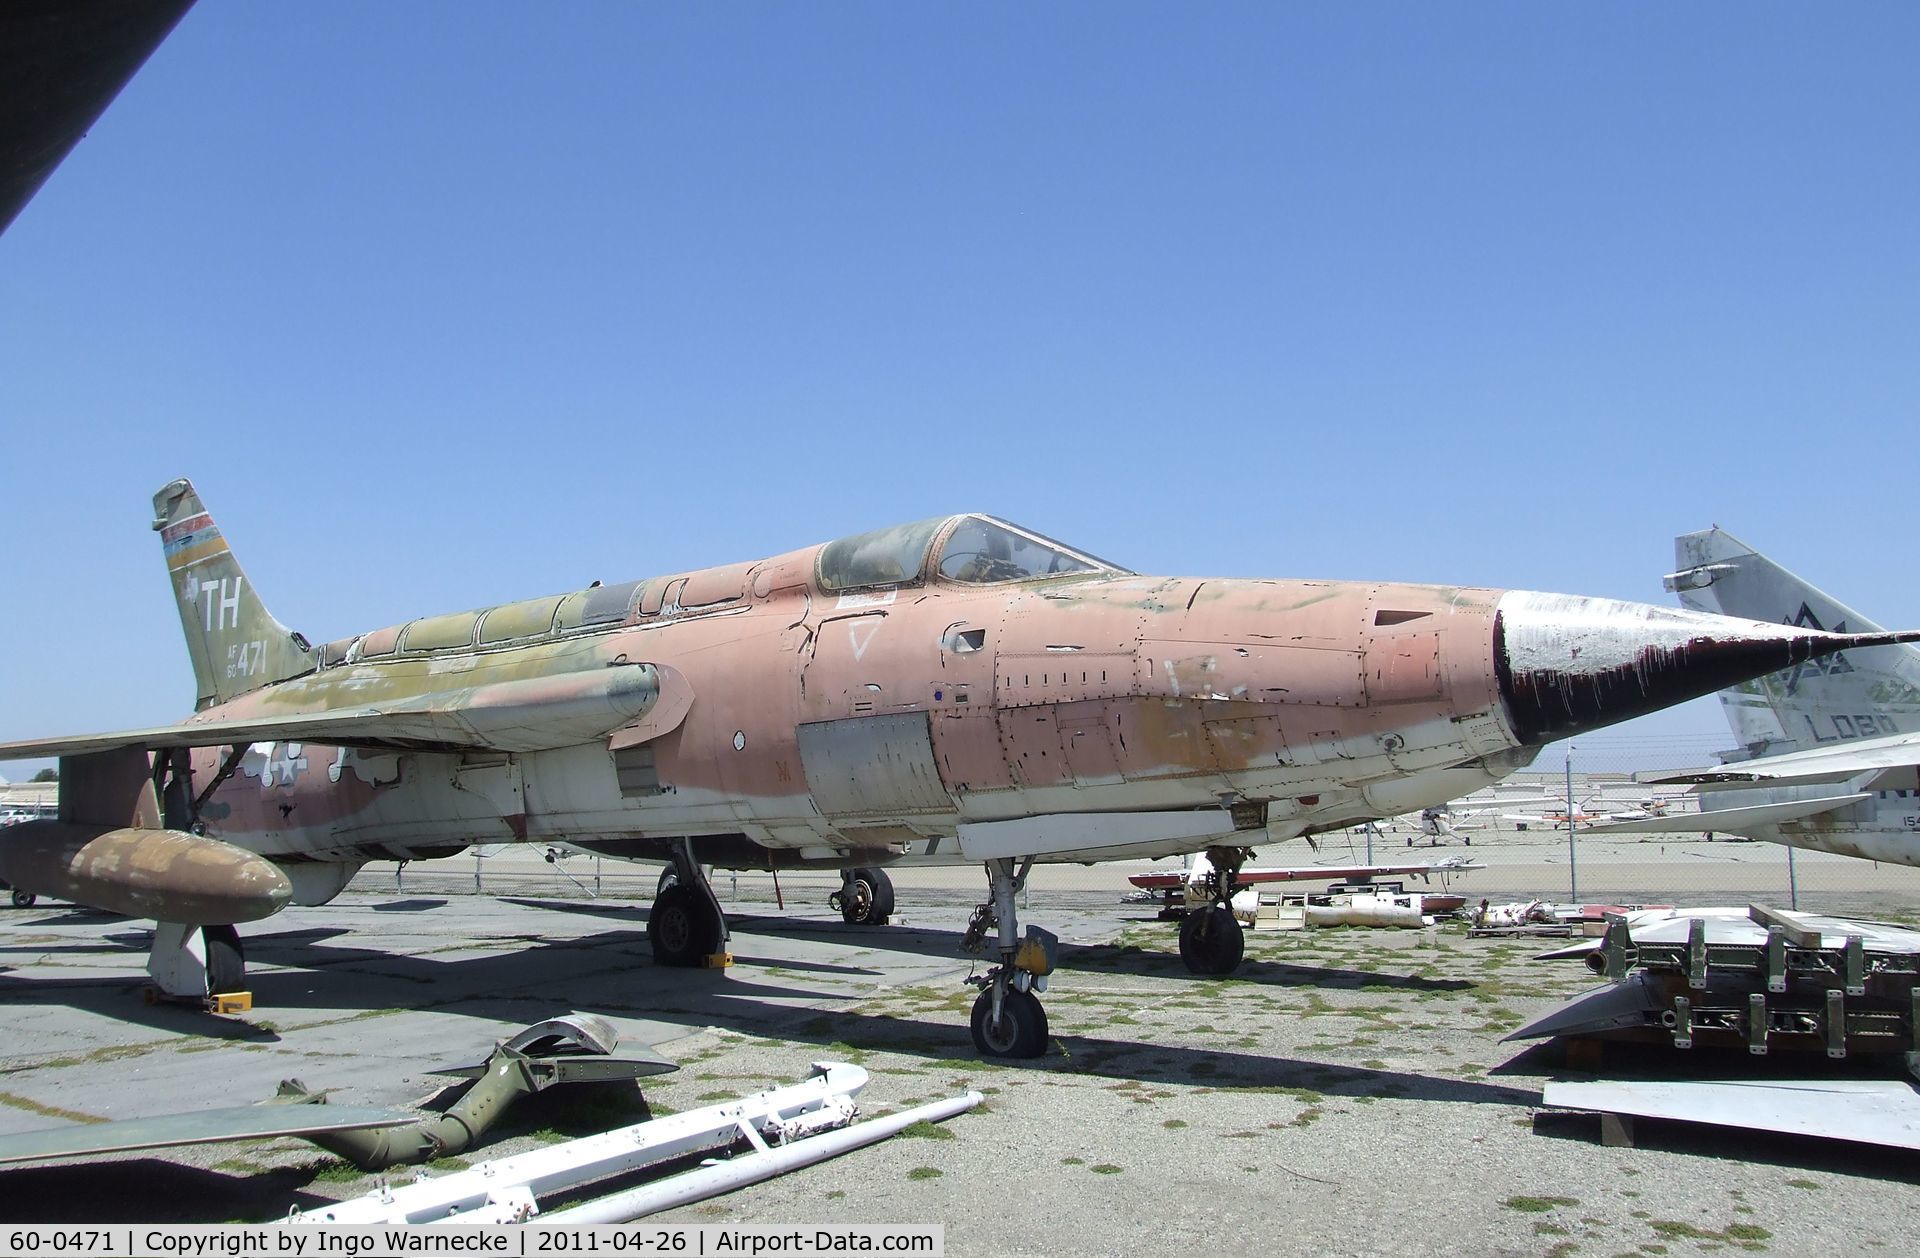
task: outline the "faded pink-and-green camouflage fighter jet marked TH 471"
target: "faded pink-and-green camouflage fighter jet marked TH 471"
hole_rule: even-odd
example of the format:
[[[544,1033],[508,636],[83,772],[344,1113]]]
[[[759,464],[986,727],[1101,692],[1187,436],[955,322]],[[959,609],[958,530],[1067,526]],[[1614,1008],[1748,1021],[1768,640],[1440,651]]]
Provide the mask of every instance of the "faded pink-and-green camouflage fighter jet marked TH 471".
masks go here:
[[[315,645],[269,615],[186,480],[154,499],[198,682],[173,726],[60,757],[60,818],[0,878],[154,918],[150,972],[236,989],[236,922],[367,860],[568,841],[670,860],[662,964],[726,941],[705,864],[985,866],[973,1041],[1046,1043],[1035,860],[1206,851],[1181,951],[1233,968],[1254,843],[1438,807],[1532,749],[1853,645],[1553,593],[1140,576],[985,515]],[[1223,964],[1227,962],[1227,964]]]

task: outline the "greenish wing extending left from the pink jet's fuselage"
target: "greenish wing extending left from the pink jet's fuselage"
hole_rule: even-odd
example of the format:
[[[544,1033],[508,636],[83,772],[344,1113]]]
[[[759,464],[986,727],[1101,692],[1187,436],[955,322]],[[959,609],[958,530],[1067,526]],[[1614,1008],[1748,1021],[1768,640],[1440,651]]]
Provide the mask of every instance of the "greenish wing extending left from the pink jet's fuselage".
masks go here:
[[[664,665],[438,689],[394,703],[323,713],[184,720],[146,730],[0,743],[0,761],[92,755],[121,747],[232,747],[326,743],[388,751],[551,751],[612,738],[620,745],[666,734],[685,716],[693,689]]]

